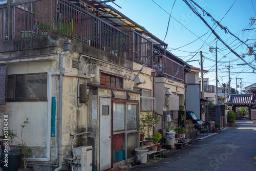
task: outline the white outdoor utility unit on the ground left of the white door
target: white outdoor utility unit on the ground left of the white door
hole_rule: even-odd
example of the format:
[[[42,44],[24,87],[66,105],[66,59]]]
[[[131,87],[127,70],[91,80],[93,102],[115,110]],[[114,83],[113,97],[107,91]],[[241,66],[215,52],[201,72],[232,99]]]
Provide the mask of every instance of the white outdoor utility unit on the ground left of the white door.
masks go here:
[[[76,154],[76,162],[81,166],[75,168],[73,171],[92,171],[93,170],[93,147],[79,146],[74,148]]]

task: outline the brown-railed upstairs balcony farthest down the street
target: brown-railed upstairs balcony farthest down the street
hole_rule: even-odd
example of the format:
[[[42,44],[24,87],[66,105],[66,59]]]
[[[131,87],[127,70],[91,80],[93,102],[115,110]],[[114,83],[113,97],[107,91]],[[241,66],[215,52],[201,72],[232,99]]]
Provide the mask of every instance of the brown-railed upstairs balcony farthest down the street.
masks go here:
[[[153,56],[153,69],[159,74],[184,81],[184,66],[164,55]]]

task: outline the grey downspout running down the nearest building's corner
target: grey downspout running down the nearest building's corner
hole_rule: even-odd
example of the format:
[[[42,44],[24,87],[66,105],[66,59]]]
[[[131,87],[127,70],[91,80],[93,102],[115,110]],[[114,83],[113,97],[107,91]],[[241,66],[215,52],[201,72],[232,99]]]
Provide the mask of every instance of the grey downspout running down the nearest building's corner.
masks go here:
[[[59,75],[59,100],[58,100],[58,161],[59,166],[54,170],[60,170],[62,167],[62,154],[61,154],[61,138],[62,138],[62,87],[63,87],[63,75],[65,74],[65,67],[63,64],[63,55],[69,54],[69,51],[61,52],[59,55],[59,67],[62,69]]]

